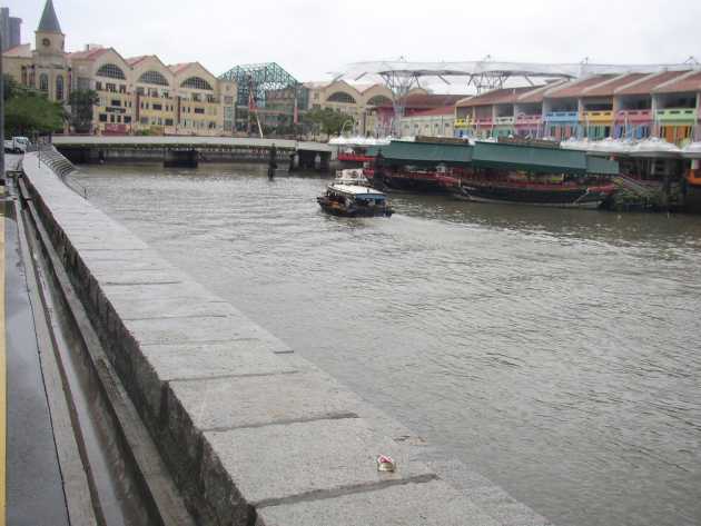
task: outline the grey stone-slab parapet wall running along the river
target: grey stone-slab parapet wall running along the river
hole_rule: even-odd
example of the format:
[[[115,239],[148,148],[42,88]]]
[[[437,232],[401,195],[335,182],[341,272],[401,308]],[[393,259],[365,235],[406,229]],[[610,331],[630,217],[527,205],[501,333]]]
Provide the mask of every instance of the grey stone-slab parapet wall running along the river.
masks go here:
[[[549,524],[160,258],[36,155],[24,173],[198,524]],[[378,455],[397,470],[378,472]]]

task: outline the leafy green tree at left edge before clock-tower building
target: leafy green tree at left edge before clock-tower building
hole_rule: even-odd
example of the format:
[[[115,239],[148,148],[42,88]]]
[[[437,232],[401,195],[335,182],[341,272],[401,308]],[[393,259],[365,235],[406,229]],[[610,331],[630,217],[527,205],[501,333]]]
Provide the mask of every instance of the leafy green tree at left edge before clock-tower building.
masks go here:
[[[63,127],[66,112],[37,90],[3,79],[6,87],[6,137],[52,133]]]

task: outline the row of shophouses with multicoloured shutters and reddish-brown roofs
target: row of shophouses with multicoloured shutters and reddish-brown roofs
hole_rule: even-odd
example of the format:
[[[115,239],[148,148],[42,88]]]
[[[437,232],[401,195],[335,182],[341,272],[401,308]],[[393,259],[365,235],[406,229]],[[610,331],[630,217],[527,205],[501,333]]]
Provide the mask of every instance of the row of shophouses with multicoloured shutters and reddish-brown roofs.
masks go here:
[[[701,70],[598,75],[460,100],[456,137],[701,140]]]

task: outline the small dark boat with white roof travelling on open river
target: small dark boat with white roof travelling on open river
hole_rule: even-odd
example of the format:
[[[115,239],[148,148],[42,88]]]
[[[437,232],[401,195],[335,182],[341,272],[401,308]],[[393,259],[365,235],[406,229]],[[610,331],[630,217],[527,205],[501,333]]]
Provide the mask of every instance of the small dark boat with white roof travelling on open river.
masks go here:
[[[394,212],[387,197],[369,186],[362,170],[340,170],[316,201],[322,210],[334,216],[391,217]]]

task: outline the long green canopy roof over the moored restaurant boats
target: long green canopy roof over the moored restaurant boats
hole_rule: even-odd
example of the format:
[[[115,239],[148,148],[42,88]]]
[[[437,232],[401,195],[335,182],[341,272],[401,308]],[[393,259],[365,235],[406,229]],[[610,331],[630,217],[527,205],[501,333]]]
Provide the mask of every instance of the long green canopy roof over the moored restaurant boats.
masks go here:
[[[477,141],[470,145],[392,141],[389,146],[368,151],[368,155],[378,153],[382,153],[385,165],[442,163],[570,175],[619,173],[616,161],[593,158],[586,151],[503,142]]]

